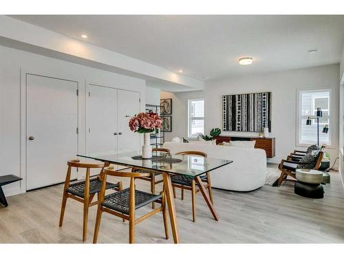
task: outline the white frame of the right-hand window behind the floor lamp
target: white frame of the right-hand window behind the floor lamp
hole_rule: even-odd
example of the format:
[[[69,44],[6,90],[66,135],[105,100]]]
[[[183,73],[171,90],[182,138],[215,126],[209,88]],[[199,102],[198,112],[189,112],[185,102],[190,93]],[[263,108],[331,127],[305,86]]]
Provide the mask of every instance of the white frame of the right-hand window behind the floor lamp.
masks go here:
[[[301,117],[302,117],[302,105],[301,105],[301,93],[302,92],[329,92],[329,96],[330,96],[330,101],[329,101],[329,119],[330,122],[328,124],[328,126],[330,127],[329,131],[328,131],[328,135],[329,135],[329,143],[326,144],[327,148],[332,148],[332,133],[331,133],[331,129],[333,128],[333,120],[334,118],[332,118],[332,114],[333,114],[333,110],[334,110],[334,99],[332,98],[332,89],[331,88],[308,88],[308,89],[297,89],[297,127],[296,127],[296,146],[300,146],[300,147],[308,147],[310,146],[310,144],[316,144],[316,142],[308,142],[308,143],[303,143],[300,142],[300,136],[301,136]],[[313,100],[313,109],[314,109],[314,100]],[[314,116],[312,114],[310,114],[310,116]],[[312,120],[312,122],[316,122],[314,120]],[[319,125],[322,125],[322,123],[319,123]],[[327,124],[324,124],[327,125]],[[321,144],[321,142],[319,142],[319,144]]]

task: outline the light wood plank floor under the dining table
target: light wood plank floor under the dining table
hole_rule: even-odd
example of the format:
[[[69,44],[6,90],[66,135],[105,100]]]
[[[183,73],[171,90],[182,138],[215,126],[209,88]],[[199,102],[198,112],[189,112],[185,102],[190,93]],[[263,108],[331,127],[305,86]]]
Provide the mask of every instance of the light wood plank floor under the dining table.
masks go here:
[[[149,183],[138,180],[137,187],[148,191]],[[190,191],[184,201],[178,191],[180,239],[182,243],[344,243],[344,189],[338,172],[331,173],[331,184],[324,189],[320,200],[295,195],[290,182],[250,193],[214,189],[219,222],[212,219],[199,193],[196,223],[191,222]],[[58,227],[62,190],[58,185],[8,197],[10,206],[0,208],[0,243],[82,243],[82,204],[69,199],[63,227]],[[149,211],[149,206],[142,209]],[[95,218],[96,206],[89,211],[87,243],[92,242]],[[128,222],[104,213],[99,243],[127,243],[128,234]],[[158,214],[136,226],[135,241],[173,239],[164,239]]]

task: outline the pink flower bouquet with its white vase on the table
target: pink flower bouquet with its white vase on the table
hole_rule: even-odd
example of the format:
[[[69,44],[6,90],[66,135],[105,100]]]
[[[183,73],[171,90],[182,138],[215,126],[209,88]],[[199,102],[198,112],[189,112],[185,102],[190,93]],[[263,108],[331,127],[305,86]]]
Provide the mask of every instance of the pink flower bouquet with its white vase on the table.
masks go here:
[[[151,133],[162,127],[162,119],[153,111],[141,112],[129,120],[129,128],[136,133],[143,133],[142,158],[151,158]]]

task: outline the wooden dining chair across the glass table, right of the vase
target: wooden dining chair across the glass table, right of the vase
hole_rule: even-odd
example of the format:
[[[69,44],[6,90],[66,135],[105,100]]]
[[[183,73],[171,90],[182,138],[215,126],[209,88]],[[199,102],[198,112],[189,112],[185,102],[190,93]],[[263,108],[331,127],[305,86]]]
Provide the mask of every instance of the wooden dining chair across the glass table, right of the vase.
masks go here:
[[[206,158],[206,153],[202,151],[182,151],[179,153],[175,153],[175,155],[197,155]],[[200,176],[202,182],[204,182],[204,187],[208,189],[209,197],[211,198],[211,202],[213,203],[213,192],[211,191],[211,176],[207,172],[206,175]],[[192,199],[192,206],[193,206],[193,222],[196,222],[196,194],[200,191],[200,189],[196,189],[196,181],[195,178],[192,178],[188,175],[172,175],[171,182],[173,186],[173,196],[176,197],[175,188],[180,188],[182,191],[182,200],[184,200],[184,190],[191,191],[191,199]]]

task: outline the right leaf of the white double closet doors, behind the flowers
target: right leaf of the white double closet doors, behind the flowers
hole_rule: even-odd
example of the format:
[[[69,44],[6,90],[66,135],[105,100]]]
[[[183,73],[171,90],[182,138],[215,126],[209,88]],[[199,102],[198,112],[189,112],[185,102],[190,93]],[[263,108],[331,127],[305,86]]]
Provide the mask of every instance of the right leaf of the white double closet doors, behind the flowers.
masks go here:
[[[140,133],[129,129],[129,119],[140,112],[140,94],[118,89],[118,149],[140,150]]]

